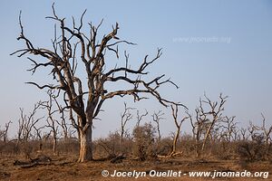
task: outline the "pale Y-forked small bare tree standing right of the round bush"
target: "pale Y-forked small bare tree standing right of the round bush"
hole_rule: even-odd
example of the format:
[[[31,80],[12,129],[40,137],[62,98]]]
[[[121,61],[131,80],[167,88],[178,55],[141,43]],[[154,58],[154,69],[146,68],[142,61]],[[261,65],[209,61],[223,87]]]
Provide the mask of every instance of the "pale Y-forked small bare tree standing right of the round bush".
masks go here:
[[[174,119],[175,126],[177,128],[176,133],[175,133],[175,137],[173,139],[172,151],[170,153],[170,157],[173,157],[177,154],[180,154],[180,153],[177,153],[177,142],[178,142],[178,139],[180,138],[181,124],[186,119],[189,119],[189,117],[187,116],[187,117],[180,119],[180,121],[178,120],[179,105],[171,105],[171,110],[172,110],[172,117]]]

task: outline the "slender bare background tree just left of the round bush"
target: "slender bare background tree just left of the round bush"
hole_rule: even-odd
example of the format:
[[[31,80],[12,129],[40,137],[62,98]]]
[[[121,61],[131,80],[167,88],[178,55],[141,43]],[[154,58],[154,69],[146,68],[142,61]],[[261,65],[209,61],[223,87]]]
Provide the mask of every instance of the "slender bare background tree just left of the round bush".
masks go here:
[[[120,147],[121,147],[121,154],[122,154],[122,142],[123,142],[123,137],[126,132],[126,124],[128,123],[129,120],[133,118],[131,114],[131,110],[134,110],[134,108],[127,107],[126,102],[124,102],[124,110],[121,113],[121,138],[120,138]]]

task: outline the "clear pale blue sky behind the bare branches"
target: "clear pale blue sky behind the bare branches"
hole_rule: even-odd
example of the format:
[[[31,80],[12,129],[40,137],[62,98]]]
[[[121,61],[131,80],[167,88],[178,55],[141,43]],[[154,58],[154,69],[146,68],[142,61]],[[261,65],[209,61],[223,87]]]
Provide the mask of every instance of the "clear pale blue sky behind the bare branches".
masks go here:
[[[125,46],[130,52],[131,65],[136,66],[146,54],[151,56],[162,48],[162,56],[151,68],[151,76],[166,74],[180,86],[160,89],[163,97],[180,101],[190,112],[199,104],[203,93],[217,100],[219,93],[228,95],[225,115],[236,116],[239,126],[248,121],[261,122],[261,113],[272,124],[272,2],[268,0],[229,1],[2,1],[0,4],[0,129],[12,120],[10,136],[16,131],[19,108],[30,111],[38,100],[46,99],[44,91],[27,85],[26,81],[50,82],[44,71],[32,75],[26,71],[31,63],[26,57],[10,56],[22,48],[17,42],[20,33],[18,15],[22,10],[24,31],[38,47],[51,47],[53,22],[45,19],[52,14],[55,2],[57,14],[71,23],[79,19],[84,9],[84,22],[99,24],[101,33],[112,30],[118,22],[118,37],[137,43]],[[94,137],[104,137],[119,129],[123,102],[138,110],[165,112],[161,121],[162,136],[175,130],[170,109],[158,101],[113,99],[103,106],[100,118],[94,123]],[[180,116],[182,116],[180,111]],[[184,114],[183,114],[184,115]],[[145,121],[151,120],[151,116]],[[135,125],[131,120],[129,126]],[[183,132],[189,133],[189,124]]]

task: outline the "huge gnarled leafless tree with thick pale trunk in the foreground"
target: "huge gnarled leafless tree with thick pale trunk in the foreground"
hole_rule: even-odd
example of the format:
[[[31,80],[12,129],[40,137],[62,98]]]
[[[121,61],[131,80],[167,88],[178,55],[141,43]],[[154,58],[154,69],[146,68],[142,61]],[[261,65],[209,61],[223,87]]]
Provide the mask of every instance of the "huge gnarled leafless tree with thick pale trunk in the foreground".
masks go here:
[[[159,60],[161,49],[158,49],[154,58],[150,59],[146,55],[136,69],[131,68],[127,52],[124,52],[124,66],[112,68],[108,66],[109,62],[106,60],[108,52],[113,52],[116,58],[119,59],[118,45],[133,43],[117,37],[119,30],[119,24],[117,23],[112,26],[112,31],[106,33],[101,40],[99,40],[97,34],[102,22],[97,26],[90,23],[90,31],[83,33],[83,16],[85,13],[86,11],[83,12],[78,25],[73,18],[73,25],[69,27],[66,24],[66,19],[56,14],[53,6],[53,16],[46,17],[58,24],[55,26],[53,49],[35,46],[25,36],[20,14],[21,34],[17,40],[23,41],[25,47],[12,53],[17,54],[18,57],[26,54],[33,55],[28,57],[28,60],[33,62],[33,67],[29,70],[33,73],[41,68],[44,69],[44,67],[51,70],[53,79],[56,80],[54,83],[44,85],[39,85],[37,82],[28,83],[39,89],[63,91],[65,108],[72,109],[78,118],[76,127],[80,136],[79,162],[92,160],[92,123],[101,112],[105,100],[111,100],[117,96],[131,95],[137,101],[147,99],[146,96],[151,95],[159,100],[162,105],[167,106],[175,102],[162,98],[158,88],[166,83],[178,88],[170,79],[165,80],[164,74],[147,81],[147,79],[151,78],[146,76],[149,74],[147,69],[150,69],[151,64]],[[34,57],[38,57],[38,59],[35,60]],[[112,60],[110,61],[112,62]],[[79,63],[81,64],[79,65]],[[78,73],[80,68],[83,68],[83,70]],[[83,71],[85,74],[82,73]],[[116,86],[108,87],[111,82]],[[126,83],[128,89],[118,89],[120,87],[118,86],[119,83],[121,85]],[[87,89],[84,90],[85,88]]]

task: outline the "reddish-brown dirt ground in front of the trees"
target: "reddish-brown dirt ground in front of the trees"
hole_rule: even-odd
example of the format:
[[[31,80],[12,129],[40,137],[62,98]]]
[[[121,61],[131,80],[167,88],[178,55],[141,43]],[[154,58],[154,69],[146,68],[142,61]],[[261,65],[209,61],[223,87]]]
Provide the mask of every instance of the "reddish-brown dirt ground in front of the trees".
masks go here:
[[[121,163],[112,164],[110,160],[96,160],[88,163],[76,163],[75,156],[54,156],[50,157],[51,161],[39,162],[36,165],[16,165],[16,163],[24,163],[27,160],[17,157],[0,157],[0,180],[272,180],[272,164],[271,162],[254,162],[248,163],[244,161],[227,161],[227,160],[194,160],[189,158],[168,158],[153,161],[136,161],[129,158],[123,159]],[[20,160],[19,162],[16,160]],[[120,172],[137,171],[145,172],[146,176],[138,177],[118,177],[118,176],[102,176],[102,170],[108,170],[110,175],[114,170]],[[150,176],[151,170],[161,171],[181,171],[186,176]],[[267,179],[263,177],[216,177],[212,179],[207,177],[190,177],[191,171],[244,171],[269,172]],[[106,172],[106,171],[105,171]],[[105,174],[105,172],[103,174]]]

